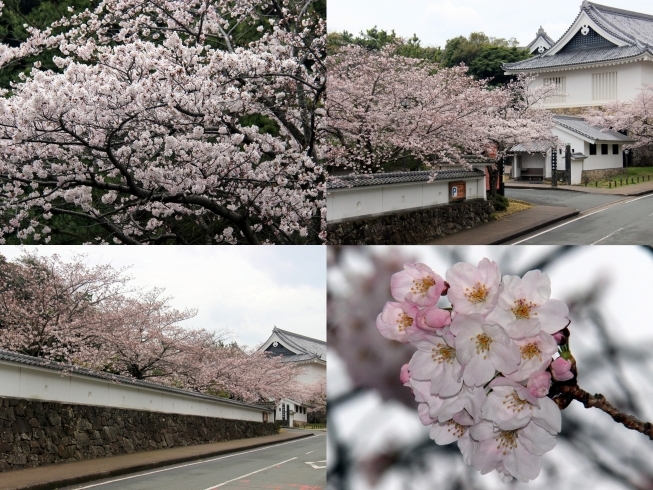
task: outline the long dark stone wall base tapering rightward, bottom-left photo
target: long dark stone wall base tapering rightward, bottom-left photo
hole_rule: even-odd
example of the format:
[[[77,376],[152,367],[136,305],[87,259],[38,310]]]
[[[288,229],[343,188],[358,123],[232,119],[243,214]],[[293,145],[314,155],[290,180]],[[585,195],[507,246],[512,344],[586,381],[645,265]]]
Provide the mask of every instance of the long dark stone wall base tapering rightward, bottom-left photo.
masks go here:
[[[272,423],[0,398],[0,472],[277,432]]]

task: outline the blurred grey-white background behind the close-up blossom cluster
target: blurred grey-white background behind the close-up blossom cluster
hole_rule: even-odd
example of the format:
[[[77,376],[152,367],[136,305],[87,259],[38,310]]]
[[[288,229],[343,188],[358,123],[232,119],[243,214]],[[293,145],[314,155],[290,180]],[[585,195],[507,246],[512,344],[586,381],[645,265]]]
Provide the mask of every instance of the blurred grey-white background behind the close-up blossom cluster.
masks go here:
[[[383,338],[375,320],[394,301],[390,277],[404,263],[424,262],[444,277],[456,262],[476,265],[483,257],[503,275],[549,274],[551,297],[570,309],[580,387],[653,423],[651,247],[329,247],[329,490],[653,489],[653,441],[575,401],[562,413],[556,448],[528,484],[481,475],[456,444],[429,439],[399,381],[414,348]]]

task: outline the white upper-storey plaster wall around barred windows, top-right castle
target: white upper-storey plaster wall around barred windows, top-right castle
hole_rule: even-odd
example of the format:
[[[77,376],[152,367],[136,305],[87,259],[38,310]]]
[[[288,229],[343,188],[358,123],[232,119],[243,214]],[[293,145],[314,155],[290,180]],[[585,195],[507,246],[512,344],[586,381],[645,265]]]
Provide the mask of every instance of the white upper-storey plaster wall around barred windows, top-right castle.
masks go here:
[[[617,98],[619,100],[631,100],[637,95],[643,83],[653,83],[653,63],[650,61],[638,61],[623,65],[540,73],[533,81],[533,86],[541,87],[545,78],[566,78],[566,101],[545,103],[544,107],[547,108],[584,107],[605,104],[608,101],[592,100],[592,75],[614,71],[617,72]]]

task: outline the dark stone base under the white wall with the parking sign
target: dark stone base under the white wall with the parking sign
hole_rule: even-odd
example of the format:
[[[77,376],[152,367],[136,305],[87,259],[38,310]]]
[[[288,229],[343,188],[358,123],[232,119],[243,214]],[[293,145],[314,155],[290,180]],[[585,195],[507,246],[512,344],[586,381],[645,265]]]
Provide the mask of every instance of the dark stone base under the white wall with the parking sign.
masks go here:
[[[466,201],[327,225],[332,245],[416,245],[487,223],[489,201]]]

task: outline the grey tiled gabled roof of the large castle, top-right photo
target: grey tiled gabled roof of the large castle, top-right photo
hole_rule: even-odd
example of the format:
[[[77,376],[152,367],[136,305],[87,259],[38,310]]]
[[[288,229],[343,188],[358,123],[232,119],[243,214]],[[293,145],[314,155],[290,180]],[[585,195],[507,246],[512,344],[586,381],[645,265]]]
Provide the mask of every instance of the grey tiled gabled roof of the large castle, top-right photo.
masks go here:
[[[524,61],[505,63],[503,68],[515,73],[640,59],[644,55],[653,57],[653,15],[585,0],[572,25],[549,50]]]

